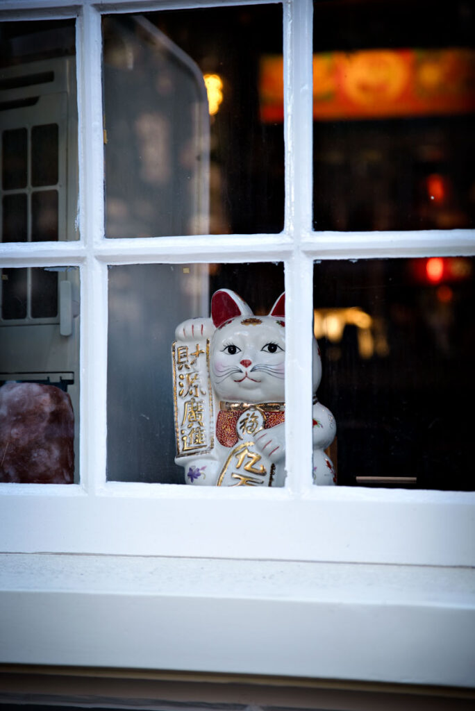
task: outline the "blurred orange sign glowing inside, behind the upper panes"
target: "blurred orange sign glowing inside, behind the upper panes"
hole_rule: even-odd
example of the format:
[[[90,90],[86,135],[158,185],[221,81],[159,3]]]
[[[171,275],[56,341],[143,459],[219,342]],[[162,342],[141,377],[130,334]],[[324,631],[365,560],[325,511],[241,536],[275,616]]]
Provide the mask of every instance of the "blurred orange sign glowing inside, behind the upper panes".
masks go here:
[[[475,50],[380,49],[316,54],[314,119],[370,119],[475,111]],[[260,65],[263,122],[284,118],[283,60]]]

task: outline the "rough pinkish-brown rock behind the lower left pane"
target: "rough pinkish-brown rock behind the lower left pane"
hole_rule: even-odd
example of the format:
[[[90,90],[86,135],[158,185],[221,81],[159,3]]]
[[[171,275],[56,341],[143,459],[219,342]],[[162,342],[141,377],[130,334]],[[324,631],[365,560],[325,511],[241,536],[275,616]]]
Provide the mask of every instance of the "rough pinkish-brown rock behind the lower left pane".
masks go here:
[[[73,483],[74,414],[54,385],[0,387],[0,481]]]

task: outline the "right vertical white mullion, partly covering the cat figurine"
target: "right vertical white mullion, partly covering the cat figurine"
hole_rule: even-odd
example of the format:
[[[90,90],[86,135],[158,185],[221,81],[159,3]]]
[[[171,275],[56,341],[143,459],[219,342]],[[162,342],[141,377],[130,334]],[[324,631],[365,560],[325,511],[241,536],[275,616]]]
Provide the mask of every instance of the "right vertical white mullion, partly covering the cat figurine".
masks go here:
[[[311,487],[312,263],[300,243],[311,232],[312,207],[311,0],[284,3],[286,229],[294,255],[286,264],[287,486]]]

